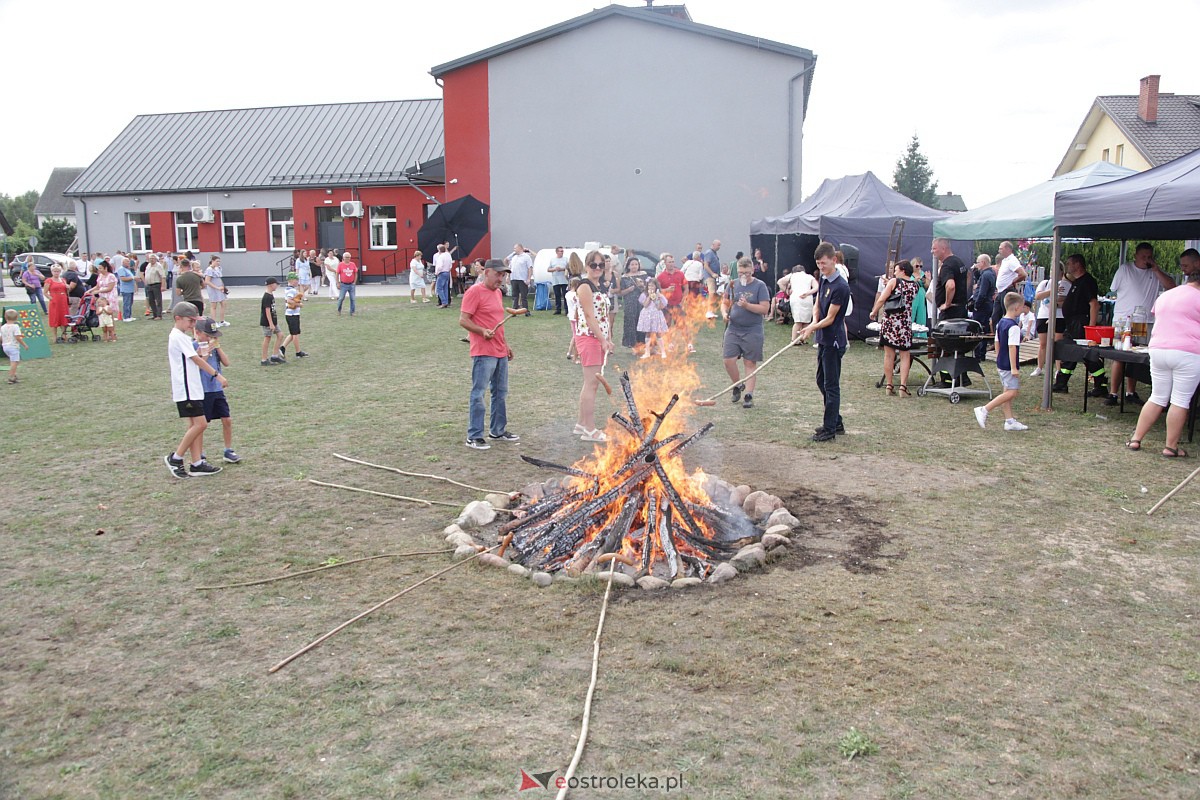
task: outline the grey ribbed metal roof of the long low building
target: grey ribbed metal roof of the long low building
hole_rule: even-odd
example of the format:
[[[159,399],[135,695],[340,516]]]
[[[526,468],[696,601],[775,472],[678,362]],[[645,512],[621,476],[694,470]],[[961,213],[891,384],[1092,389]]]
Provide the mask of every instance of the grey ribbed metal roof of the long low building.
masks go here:
[[[444,156],[440,100],[150,114],[66,194],[396,184]]]

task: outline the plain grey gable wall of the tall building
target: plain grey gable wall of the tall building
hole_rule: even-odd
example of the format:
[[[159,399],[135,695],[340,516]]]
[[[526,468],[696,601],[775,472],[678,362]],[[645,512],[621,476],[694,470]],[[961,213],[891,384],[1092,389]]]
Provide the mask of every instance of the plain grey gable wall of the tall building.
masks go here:
[[[748,249],[750,221],[788,209],[788,79],[806,66],[623,17],[492,59],[493,251],[600,240],[680,253],[714,237],[722,255]]]

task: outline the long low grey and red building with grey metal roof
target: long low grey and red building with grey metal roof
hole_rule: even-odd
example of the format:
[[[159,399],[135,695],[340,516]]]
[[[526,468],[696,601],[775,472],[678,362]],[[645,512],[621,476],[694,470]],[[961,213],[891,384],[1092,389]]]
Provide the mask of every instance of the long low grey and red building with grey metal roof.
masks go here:
[[[440,100],[149,114],[65,194],[88,252],[215,253],[236,283],[329,247],[378,278],[407,271],[442,164]]]

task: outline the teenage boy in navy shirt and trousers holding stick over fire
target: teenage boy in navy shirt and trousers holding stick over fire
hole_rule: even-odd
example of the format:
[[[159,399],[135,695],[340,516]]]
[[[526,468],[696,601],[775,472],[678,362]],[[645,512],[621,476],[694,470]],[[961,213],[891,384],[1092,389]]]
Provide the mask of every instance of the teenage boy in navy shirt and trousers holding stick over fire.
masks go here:
[[[824,419],[812,434],[812,441],[833,441],[846,433],[841,419],[841,359],[846,355],[846,306],[850,284],[838,272],[836,248],[821,242],[814,251],[821,283],[817,285],[817,307],[812,323],[800,331],[800,342],[814,332],[817,339],[817,389],[824,398]]]

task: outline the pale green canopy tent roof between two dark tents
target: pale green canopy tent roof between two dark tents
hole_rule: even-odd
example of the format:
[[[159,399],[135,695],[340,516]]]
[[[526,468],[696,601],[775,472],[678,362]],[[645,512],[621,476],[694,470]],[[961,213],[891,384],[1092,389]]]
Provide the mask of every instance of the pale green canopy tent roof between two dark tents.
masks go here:
[[[1010,194],[964,213],[934,222],[934,235],[977,241],[979,239],[1016,239],[1054,234],[1054,196],[1084,186],[1097,186],[1133,175],[1135,170],[1099,161],[1058,175],[1027,190]]]

